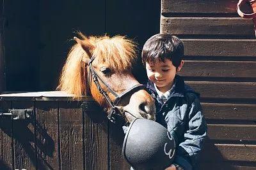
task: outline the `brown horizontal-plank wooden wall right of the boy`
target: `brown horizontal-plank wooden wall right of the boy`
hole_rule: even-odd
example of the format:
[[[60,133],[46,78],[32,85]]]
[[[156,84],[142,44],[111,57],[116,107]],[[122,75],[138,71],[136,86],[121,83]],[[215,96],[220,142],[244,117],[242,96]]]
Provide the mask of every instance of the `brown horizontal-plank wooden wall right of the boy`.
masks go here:
[[[236,3],[162,1],[161,32],[184,41],[180,75],[200,92],[207,119],[201,169],[256,169],[256,40]]]

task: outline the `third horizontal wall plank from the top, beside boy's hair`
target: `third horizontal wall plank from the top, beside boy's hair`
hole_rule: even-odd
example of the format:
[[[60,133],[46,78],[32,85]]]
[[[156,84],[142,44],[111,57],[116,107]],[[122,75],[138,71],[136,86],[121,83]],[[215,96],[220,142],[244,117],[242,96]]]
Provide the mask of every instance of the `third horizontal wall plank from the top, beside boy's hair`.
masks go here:
[[[256,57],[256,39],[182,39],[184,55]],[[195,48],[196,47],[196,48]]]

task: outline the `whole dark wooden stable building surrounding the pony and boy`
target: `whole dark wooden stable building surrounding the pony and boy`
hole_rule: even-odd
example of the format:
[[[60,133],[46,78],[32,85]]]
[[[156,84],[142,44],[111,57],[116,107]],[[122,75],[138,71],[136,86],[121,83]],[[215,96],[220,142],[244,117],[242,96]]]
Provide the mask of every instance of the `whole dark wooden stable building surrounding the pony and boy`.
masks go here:
[[[256,168],[256,41],[237,1],[0,2],[0,90],[54,90],[73,31],[125,34],[141,48],[160,25],[184,41],[180,74],[201,93],[209,128],[201,169]],[[129,169],[122,132],[92,98],[81,110],[58,95],[0,96],[2,110],[33,110],[26,120],[0,119],[1,169]]]

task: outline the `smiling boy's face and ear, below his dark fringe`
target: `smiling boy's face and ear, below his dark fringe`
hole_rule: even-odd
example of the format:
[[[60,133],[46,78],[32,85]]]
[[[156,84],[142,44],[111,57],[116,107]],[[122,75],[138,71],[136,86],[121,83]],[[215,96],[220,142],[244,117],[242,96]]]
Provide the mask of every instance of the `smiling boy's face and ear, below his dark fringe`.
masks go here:
[[[184,64],[182,60],[177,68],[173,66],[172,61],[165,59],[164,62],[157,60],[155,64],[146,62],[147,76],[150,81],[156,84],[161,92],[166,92],[172,88],[173,80],[177,71],[180,71]]]

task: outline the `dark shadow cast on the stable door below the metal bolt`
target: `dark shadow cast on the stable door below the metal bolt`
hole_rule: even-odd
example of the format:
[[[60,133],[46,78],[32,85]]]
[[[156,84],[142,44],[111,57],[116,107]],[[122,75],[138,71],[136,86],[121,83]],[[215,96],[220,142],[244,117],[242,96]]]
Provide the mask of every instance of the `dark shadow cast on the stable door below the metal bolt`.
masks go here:
[[[54,152],[54,141],[52,140],[51,136],[47,134],[46,129],[40,126],[40,124],[35,123],[34,120],[34,115],[30,114],[29,118],[26,120],[10,120],[8,124],[7,122],[6,124],[0,124],[0,128],[5,134],[11,138],[13,137],[15,147],[14,150],[18,154],[14,155],[17,159],[15,162],[17,166],[22,166],[22,163],[19,162],[19,159],[23,159],[22,157],[27,155],[33,166],[41,167],[38,169],[45,169],[46,167],[47,169],[53,169],[51,166],[49,166],[49,164],[47,164],[44,158],[39,157],[37,159],[36,150],[43,152],[45,157],[52,157],[52,153]],[[13,129],[10,128],[10,125],[12,125]],[[36,137],[35,131],[37,136],[40,136],[40,139]],[[15,168],[21,169],[22,167]]]

